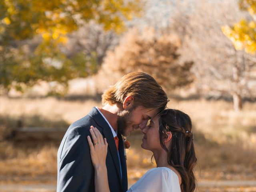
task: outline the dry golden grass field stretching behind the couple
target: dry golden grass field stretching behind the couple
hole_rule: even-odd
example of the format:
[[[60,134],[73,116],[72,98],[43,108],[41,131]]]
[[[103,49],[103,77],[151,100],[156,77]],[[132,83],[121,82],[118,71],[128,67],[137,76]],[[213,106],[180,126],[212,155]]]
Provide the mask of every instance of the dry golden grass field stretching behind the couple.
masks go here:
[[[22,121],[22,126],[68,127],[85,116],[99,100],[60,100],[56,98],[0,97],[0,139]],[[241,112],[232,103],[206,100],[170,100],[169,108],[186,112],[192,118],[198,156],[196,176],[205,181],[255,180],[256,182],[256,103],[246,102]],[[129,183],[154,167],[152,153],[140,148],[140,132],[128,137],[126,150]],[[0,184],[56,183],[56,142],[0,142]],[[256,191],[248,186],[207,187],[199,191]]]

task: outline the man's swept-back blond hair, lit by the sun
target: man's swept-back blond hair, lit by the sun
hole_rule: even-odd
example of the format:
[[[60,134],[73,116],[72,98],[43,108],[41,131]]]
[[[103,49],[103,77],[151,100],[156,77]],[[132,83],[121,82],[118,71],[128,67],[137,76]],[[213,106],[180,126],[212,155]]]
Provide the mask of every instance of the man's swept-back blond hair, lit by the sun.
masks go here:
[[[123,76],[102,94],[102,104],[122,104],[126,96],[134,97],[134,106],[162,111],[169,101],[156,80],[143,72],[132,72]]]

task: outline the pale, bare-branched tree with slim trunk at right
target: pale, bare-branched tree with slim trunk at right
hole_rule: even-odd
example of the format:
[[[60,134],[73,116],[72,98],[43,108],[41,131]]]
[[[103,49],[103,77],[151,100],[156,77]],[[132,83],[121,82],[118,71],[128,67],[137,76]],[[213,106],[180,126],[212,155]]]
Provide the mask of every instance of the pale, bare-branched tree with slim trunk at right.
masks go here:
[[[232,98],[234,110],[241,110],[244,98],[255,97],[256,59],[236,50],[221,28],[246,13],[234,0],[182,2],[176,11],[168,30],[182,40],[180,60],[194,61],[194,86],[206,98]]]

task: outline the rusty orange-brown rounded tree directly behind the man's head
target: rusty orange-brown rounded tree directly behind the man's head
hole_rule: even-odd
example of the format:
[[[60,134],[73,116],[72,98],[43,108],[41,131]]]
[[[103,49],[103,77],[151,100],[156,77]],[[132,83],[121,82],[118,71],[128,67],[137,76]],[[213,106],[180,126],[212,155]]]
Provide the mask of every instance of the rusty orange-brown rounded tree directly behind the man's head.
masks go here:
[[[98,77],[104,77],[102,89],[121,76],[134,71],[152,75],[167,92],[193,81],[193,62],[179,62],[180,40],[153,29],[131,29],[114,51],[108,52]],[[112,74],[115,74],[114,76]]]

